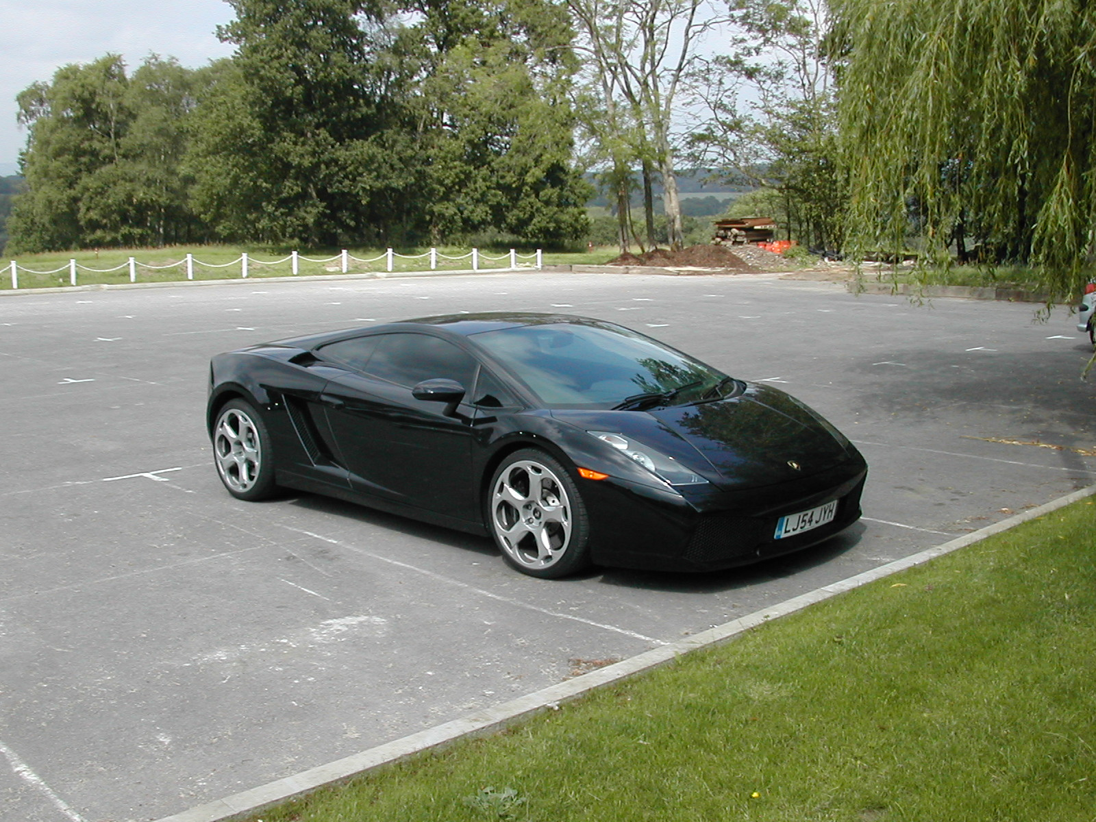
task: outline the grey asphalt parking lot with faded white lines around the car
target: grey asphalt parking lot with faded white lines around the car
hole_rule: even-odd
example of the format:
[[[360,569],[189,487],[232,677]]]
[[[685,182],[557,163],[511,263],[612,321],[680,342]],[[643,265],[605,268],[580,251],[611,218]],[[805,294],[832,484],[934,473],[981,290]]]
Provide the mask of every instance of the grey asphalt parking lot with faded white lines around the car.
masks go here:
[[[491,309],[618,321],[794,393],[867,457],[864,521],[746,569],[549,582],[487,539],[221,489],[212,354]],[[1091,486],[1091,346],[1035,310],[535,272],[0,298],[0,820],[175,813]]]

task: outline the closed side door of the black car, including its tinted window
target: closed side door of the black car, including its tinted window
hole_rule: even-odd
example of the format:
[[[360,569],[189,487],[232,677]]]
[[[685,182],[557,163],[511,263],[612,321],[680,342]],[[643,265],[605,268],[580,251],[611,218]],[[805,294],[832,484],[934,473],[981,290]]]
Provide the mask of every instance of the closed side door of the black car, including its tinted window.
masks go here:
[[[477,520],[472,410],[415,399],[424,379],[471,388],[477,363],[438,336],[414,332],[342,341],[319,354],[346,370],[320,395],[351,484],[367,494],[459,520]],[[353,356],[346,352],[351,347]],[[470,398],[469,398],[470,399]]]

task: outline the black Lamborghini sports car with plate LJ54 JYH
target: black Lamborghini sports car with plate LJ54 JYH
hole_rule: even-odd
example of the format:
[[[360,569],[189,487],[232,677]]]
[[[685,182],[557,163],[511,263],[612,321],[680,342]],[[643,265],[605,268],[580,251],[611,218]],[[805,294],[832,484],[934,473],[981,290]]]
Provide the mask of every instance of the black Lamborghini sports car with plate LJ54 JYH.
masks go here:
[[[860,516],[867,465],[811,409],[601,320],[426,317],[218,354],[229,493],[278,486],[491,535],[523,573],[707,571]]]

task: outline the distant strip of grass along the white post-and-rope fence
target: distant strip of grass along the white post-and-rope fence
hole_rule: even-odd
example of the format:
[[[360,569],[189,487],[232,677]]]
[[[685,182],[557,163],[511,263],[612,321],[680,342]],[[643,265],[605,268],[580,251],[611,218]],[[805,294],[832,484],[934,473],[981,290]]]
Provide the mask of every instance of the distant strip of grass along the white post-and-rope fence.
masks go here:
[[[472,267],[468,256],[471,249],[438,248],[436,258],[437,271],[460,271]],[[137,282],[173,282],[186,279],[184,261],[186,254],[193,254],[196,261],[193,266],[194,279],[236,279],[242,276],[240,256],[247,252],[248,277],[285,277],[293,275],[288,249],[256,249],[241,246],[173,246],[162,249],[110,249],[102,251],[65,251],[47,254],[25,254],[15,258],[19,265],[19,288],[43,288],[67,286],[71,284],[69,261],[76,260],[77,285],[93,285],[100,283],[128,283],[128,260],[133,256],[137,263]],[[346,273],[363,274],[387,271],[385,249],[350,249]],[[429,248],[398,249],[393,258],[393,272],[429,271],[431,261]],[[342,264],[338,258],[340,249],[321,249],[319,251],[301,251],[297,273],[299,276],[316,274],[340,274]],[[547,255],[546,255],[547,256]],[[377,259],[380,258],[380,259]],[[411,259],[409,259],[411,258]],[[459,258],[452,260],[447,258]],[[502,258],[502,259],[499,259]],[[609,258],[606,258],[609,259]],[[323,260],[323,262],[315,262]],[[365,260],[367,262],[361,262]],[[534,252],[521,251],[520,265],[535,265]],[[0,260],[0,289],[11,288],[11,258]],[[273,264],[272,264],[273,263]],[[121,269],[118,266],[122,266]],[[149,269],[146,266],[168,266]],[[479,269],[504,269],[510,266],[509,249],[480,249]],[[30,269],[31,271],[26,271]],[[93,269],[95,271],[87,271]],[[104,271],[114,269],[115,271]],[[59,270],[59,271],[57,271]],[[48,273],[43,273],[48,272]]]

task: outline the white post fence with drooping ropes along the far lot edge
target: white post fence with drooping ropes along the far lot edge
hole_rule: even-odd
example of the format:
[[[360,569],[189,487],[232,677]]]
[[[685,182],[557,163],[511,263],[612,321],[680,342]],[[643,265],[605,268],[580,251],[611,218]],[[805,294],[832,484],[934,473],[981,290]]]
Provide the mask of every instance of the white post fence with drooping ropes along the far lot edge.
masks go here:
[[[87,265],[78,263],[75,259],[71,259],[65,265],[59,269],[53,269],[50,271],[38,271],[36,269],[28,269],[25,265],[20,265],[14,260],[11,261],[9,271],[11,274],[11,287],[13,289],[19,288],[19,273],[23,272],[25,274],[36,274],[36,275],[52,275],[60,274],[62,272],[68,272],[69,285],[77,285],[77,273],[79,271],[84,271],[92,274],[113,274],[114,272],[128,270],[129,282],[137,282],[137,270],[146,269],[148,271],[167,271],[169,269],[182,267],[186,273],[186,279],[194,279],[195,267],[201,269],[231,269],[239,266],[240,278],[246,279],[249,276],[250,267],[253,265],[259,266],[273,266],[273,265],[284,265],[289,263],[289,269],[293,272],[293,276],[297,276],[300,273],[300,263],[313,263],[319,265],[327,265],[328,263],[338,263],[339,272],[346,274],[350,272],[351,262],[362,263],[364,265],[369,265],[372,263],[378,263],[384,261],[385,272],[391,273],[396,270],[396,259],[400,260],[430,260],[430,271],[437,271],[438,261],[448,262],[459,262],[461,260],[470,260],[471,271],[480,271],[482,263],[498,263],[505,261],[505,265],[502,266],[490,266],[493,271],[510,271],[521,267],[533,267],[541,269],[544,267],[544,252],[537,249],[532,254],[518,254],[515,249],[511,249],[509,254],[501,254],[499,256],[489,256],[487,254],[480,253],[479,249],[472,249],[467,254],[459,254],[457,256],[449,256],[447,254],[442,254],[437,249],[431,249],[422,254],[399,254],[392,249],[386,249],[385,253],[374,256],[370,259],[363,259],[359,256],[354,256],[346,249],[343,249],[340,253],[334,256],[327,256],[321,259],[315,259],[309,256],[302,256],[297,251],[289,252],[288,256],[284,256],[281,260],[256,260],[248,253],[241,253],[239,258],[227,263],[204,263],[201,260],[195,259],[194,254],[186,254],[185,259],[179,260],[173,263],[168,263],[167,265],[151,265],[149,263],[141,263],[136,260],[136,258],[130,256],[126,262],[121,265],[115,265],[113,269],[92,269]],[[532,262],[523,263],[523,260],[528,260]],[[409,270],[401,273],[416,273],[415,271]],[[422,272],[418,272],[422,273]]]

